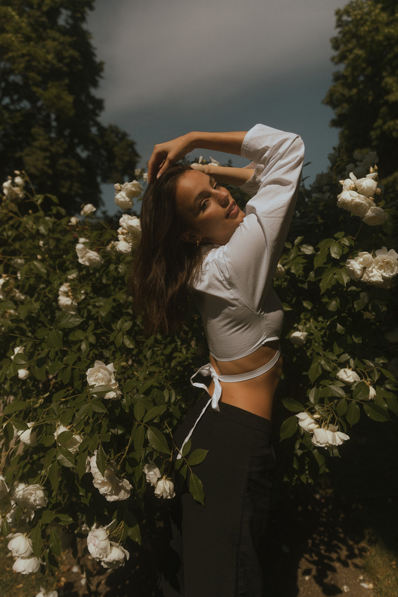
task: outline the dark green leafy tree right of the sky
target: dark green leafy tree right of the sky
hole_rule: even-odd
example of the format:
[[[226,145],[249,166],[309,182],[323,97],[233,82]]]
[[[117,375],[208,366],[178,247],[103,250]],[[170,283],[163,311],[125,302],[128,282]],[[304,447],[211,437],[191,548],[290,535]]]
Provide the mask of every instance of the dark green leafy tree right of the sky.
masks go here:
[[[375,150],[381,182],[398,196],[398,4],[351,0],[336,11],[334,64],[341,64],[324,103],[341,129],[334,173],[341,176],[356,150]]]

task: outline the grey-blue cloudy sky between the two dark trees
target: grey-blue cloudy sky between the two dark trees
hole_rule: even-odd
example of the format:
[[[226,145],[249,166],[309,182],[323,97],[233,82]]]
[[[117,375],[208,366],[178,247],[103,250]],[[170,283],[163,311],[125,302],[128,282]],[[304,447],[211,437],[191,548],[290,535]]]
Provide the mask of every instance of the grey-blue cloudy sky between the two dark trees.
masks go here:
[[[298,133],[305,176],[337,142],[321,104],[335,67],[330,38],[344,0],[97,0],[88,30],[105,63],[102,120],[128,131],[146,165],[155,143],[190,130]],[[199,150],[192,156],[206,152]],[[229,156],[212,152],[226,161]],[[247,162],[233,158],[235,165]],[[113,188],[103,187],[115,211]]]

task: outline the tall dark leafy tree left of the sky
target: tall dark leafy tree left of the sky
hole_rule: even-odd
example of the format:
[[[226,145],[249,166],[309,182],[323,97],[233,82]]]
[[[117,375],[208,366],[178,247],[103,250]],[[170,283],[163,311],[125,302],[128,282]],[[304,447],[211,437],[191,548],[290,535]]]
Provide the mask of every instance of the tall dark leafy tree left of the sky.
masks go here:
[[[134,141],[100,123],[103,71],[85,29],[94,0],[2,0],[0,176],[25,170],[74,213],[100,182],[134,178]]]

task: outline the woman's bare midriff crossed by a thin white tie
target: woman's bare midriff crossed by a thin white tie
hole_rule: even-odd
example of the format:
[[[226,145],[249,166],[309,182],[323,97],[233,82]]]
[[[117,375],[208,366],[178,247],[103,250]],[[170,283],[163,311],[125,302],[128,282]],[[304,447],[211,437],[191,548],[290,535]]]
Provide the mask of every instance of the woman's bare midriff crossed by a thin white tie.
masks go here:
[[[236,361],[217,361],[210,356],[210,362],[218,375],[239,375],[254,371],[266,365],[279,350],[279,340],[267,342],[250,355]],[[271,420],[273,399],[282,373],[282,357],[266,373],[245,381],[232,383],[220,381],[223,393],[221,401]],[[214,382],[209,386],[209,393],[214,391]]]

